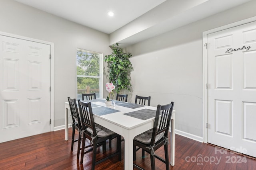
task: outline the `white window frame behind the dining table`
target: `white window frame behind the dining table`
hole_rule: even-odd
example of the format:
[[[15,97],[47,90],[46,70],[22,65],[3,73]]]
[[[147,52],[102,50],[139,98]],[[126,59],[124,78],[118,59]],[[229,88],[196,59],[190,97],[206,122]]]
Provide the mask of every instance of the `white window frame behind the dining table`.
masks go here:
[[[78,77],[88,77],[88,78],[99,78],[99,98],[103,98],[103,53],[100,52],[96,52],[96,51],[90,51],[90,50],[86,50],[86,49],[81,49],[81,48],[76,48],[76,68],[77,68],[77,52],[81,50],[84,51],[86,53],[94,53],[99,55],[100,59],[99,59],[99,64],[100,64],[100,75],[99,76],[85,76],[85,75],[77,75],[77,70],[76,70],[76,98],[78,98],[77,96],[77,78]]]

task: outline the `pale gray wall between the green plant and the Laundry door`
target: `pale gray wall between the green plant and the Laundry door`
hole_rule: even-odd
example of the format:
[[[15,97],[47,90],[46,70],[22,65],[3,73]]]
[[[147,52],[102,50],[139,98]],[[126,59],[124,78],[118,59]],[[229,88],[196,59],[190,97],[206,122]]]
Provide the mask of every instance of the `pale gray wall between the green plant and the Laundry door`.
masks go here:
[[[151,105],[174,101],[176,132],[201,140],[202,33],[256,16],[256,1],[221,12],[126,47],[132,53],[133,96],[151,96]]]

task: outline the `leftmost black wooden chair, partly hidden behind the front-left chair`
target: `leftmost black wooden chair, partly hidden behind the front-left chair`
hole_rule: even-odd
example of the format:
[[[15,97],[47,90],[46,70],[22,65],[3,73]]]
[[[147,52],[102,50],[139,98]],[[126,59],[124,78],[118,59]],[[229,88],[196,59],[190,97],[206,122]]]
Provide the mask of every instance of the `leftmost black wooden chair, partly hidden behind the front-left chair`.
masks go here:
[[[76,99],[70,99],[68,97],[68,103],[70,107],[71,117],[72,117],[72,141],[71,141],[71,150],[73,151],[74,142],[77,142],[79,139],[74,139],[75,131],[78,132],[82,129],[78,108],[76,105]]]

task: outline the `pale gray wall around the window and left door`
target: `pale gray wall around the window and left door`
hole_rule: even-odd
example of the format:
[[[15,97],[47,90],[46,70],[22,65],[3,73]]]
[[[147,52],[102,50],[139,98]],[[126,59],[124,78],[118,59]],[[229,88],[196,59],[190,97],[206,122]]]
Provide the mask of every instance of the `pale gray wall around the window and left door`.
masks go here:
[[[0,0],[0,31],[54,43],[54,127],[64,125],[64,102],[76,98],[76,48],[108,55],[108,35],[13,0]]]

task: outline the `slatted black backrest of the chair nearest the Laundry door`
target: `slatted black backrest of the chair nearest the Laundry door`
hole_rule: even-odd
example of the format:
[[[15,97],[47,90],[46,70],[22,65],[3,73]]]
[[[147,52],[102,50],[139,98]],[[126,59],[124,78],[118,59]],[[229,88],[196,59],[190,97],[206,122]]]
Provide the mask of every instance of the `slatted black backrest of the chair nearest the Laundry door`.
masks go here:
[[[154,121],[152,138],[150,142],[151,146],[153,146],[155,143],[156,135],[164,132],[164,136],[166,138],[168,137],[168,131],[170,127],[173,106],[174,106],[174,102],[171,102],[170,104],[166,104],[166,105],[158,104],[156,109],[156,118]]]

